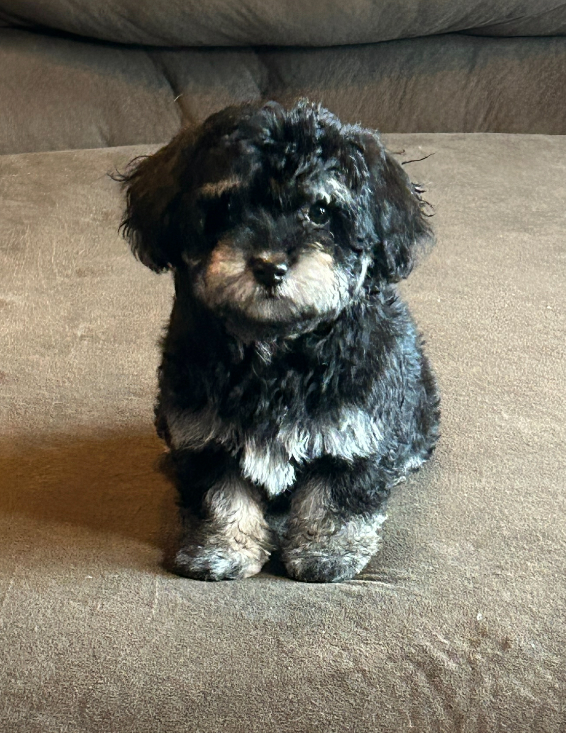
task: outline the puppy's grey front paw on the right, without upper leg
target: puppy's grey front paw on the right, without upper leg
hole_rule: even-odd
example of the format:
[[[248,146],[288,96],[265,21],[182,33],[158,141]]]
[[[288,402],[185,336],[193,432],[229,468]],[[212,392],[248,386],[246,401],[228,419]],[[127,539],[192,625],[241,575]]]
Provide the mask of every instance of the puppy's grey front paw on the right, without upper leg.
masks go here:
[[[377,552],[383,520],[385,515],[353,517],[328,534],[295,523],[282,551],[287,572],[306,583],[349,581]]]

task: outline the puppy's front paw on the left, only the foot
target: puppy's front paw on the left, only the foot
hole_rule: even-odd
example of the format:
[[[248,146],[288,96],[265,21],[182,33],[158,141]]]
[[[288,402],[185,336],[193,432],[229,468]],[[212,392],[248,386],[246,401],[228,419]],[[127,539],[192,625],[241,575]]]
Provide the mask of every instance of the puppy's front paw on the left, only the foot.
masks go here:
[[[269,552],[259,545],[236,549],[207,542],[180,548],[172,571],[199,581],[235,581],[256,575],[268,558]]]

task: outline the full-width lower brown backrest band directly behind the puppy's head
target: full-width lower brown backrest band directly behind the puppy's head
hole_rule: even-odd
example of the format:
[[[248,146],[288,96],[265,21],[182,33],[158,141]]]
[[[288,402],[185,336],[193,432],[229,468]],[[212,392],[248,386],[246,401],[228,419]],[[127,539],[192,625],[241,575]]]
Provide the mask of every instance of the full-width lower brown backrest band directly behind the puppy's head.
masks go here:
[[[228,104],[307,96],[397,132],[566,133],[566,38],[141,49],[0,29],[0,152],[163,142]]]

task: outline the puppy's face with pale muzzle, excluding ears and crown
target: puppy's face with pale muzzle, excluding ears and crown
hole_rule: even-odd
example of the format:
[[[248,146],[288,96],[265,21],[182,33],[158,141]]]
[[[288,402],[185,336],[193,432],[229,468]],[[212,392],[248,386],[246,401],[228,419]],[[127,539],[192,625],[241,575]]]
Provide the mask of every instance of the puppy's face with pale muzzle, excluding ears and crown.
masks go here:
[[[254,173],[229,171],[198,191],[202,240],[183,253],[196,296],[216,312],[282,328],[335,316],[369,264],[351,216],[356,196],[334,161],[313,156],[298,172],[295,156],[286,169],[265,151],[243,155],[256,158]]]

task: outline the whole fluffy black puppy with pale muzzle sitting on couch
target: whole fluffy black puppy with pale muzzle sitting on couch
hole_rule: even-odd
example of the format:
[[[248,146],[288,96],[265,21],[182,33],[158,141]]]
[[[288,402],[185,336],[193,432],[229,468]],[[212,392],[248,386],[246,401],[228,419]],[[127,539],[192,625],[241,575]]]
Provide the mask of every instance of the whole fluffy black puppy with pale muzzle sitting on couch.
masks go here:
[[[213,114],[122,180],[133,253],[174,277],[155,408],[174,571],[247,578],[279,550],[299,581],[352,578],[438,437],[394,285],[431,239],[422,190],[378,133],[306,101]]]

